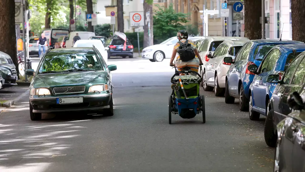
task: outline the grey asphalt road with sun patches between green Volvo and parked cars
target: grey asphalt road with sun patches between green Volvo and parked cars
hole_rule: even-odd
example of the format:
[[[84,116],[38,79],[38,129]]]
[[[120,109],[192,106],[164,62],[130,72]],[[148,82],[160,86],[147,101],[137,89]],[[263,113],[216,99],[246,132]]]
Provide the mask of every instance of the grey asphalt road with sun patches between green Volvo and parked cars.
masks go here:
[[[111,59],[114,116],[43,114],[31,121],[28,97],[0,113],[0,171],[273,170],[264,142],[264,117],[250,121],[237,104],[204,92],[202,116],[168,124],[169,59]]]

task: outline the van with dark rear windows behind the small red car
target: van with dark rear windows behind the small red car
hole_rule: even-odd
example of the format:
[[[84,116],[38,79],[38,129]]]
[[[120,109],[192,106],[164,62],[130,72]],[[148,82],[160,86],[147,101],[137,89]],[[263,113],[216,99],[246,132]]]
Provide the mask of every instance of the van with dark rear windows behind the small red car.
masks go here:
[[[47,38],[48,47],[55,48],[55,43],[57,42],[57,39],[60,36],[68,36],[69,29],[62,29],[62,28],[46,29],[43,31],[43,33],[45,34],[45,37]]]

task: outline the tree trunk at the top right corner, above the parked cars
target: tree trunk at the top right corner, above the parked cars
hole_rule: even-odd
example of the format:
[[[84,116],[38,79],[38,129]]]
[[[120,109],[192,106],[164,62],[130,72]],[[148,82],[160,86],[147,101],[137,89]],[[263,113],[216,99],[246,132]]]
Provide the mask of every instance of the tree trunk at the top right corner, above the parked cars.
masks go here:
[[[291,1],[292,40],[305,42],[305,1]]]

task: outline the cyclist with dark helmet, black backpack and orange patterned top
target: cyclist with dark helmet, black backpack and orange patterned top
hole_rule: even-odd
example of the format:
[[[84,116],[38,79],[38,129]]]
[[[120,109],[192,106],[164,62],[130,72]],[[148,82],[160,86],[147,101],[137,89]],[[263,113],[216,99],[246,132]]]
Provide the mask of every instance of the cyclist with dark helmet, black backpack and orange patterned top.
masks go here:
[[[173,54],[170,58],[170,66],[176,65],[178,71],[183,71],[183,68],[188,67],[192,71],[198,72],[199,65],[203,63],[195,43],[192,40],[188,40],[188,32],[186,30],[178,31],[177,38],[179,41],[174,46]],[[184,46],[186,47],[184,48]],[[176,55],[178,57],[174,64],[173,61]]]

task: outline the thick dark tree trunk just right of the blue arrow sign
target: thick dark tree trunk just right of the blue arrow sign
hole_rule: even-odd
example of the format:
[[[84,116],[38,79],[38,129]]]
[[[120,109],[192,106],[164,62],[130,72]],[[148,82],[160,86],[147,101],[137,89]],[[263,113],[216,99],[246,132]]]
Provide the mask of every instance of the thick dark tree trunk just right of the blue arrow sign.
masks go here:
[[[244,0],[245,2],[245,37],[251,39],[262,38],[262,1]]]

